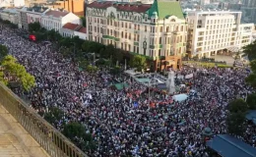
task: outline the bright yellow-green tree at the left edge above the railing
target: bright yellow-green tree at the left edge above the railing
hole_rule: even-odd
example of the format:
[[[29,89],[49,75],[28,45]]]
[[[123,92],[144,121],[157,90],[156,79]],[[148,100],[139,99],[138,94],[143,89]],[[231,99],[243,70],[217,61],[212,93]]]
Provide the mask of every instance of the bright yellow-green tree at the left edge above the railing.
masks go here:
[[[7,55],[4,57],[1,66],[4,76],[2,79],[6,79],[8,83],[10,81],[19,82],[27,91],[35,85],[34,77],[26,71],[24,66],[17,63],[17,60],[13,56]]]

